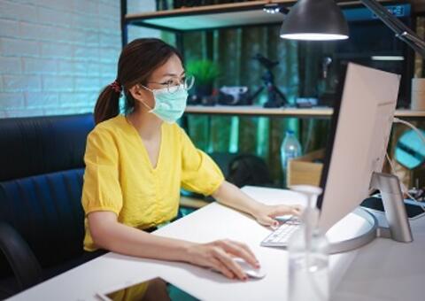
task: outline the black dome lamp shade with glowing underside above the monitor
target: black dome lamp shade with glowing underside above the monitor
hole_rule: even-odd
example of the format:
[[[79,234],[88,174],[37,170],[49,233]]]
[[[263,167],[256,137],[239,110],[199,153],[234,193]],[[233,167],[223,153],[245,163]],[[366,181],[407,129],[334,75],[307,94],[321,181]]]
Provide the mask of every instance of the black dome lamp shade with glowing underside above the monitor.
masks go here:
[[[284,19],[281,37],[294,40],[344,40],[348,25],[334,0],[298,0]]]

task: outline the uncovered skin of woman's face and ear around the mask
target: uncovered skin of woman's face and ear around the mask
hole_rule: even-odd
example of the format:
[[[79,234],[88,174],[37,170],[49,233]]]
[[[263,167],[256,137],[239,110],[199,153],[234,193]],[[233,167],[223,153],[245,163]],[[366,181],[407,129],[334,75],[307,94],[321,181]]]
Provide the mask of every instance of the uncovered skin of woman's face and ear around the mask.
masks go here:
[[[175,54],[168,58],[163,66],[159,66],[149,78],[145,87],[148,89],[166,89],[168,86],[178,86],[184,80],[184,69],[182,61]],[[155,99],[150,90],[144,89],[141,85],[135,85],[130,89],[132,96],[149,108],[155,107]],[[140,104],[139,109],[149,111],[146,105]]]

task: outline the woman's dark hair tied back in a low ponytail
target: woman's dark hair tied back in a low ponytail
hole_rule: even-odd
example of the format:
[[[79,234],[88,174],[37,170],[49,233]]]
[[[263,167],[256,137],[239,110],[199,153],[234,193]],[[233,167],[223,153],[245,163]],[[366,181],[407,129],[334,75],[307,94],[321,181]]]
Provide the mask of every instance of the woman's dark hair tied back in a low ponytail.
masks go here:
[[[168,58],[182,55],[173,46],[156,38],[135,39],[121,51],[118,61],[116,82],[122,87],[126,99],[125,111],[131,112],[135,107],[135,99],[128,92],[137,83],[146,81],[159,66],[166,63]],[[97,98],[95,106],[96,124],[109,120],[120,113],[120,89],[117,84],[106,86]]]

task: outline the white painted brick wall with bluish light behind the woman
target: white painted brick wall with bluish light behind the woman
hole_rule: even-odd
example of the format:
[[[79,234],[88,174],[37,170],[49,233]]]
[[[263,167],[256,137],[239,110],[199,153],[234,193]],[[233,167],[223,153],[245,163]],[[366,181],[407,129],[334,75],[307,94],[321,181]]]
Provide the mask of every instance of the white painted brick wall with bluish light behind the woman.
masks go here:
[[[129,12],[155,9],[128,2]],[[0,0],[0,118],[93,112],[119,55],[119,0]]]

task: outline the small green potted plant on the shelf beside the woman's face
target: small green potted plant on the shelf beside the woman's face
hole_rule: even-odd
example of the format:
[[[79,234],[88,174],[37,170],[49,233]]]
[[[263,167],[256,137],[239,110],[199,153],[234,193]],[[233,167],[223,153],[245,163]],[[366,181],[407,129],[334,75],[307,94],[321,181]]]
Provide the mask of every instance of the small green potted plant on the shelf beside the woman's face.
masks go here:
[[[186,71],[195,77],[195,94],[197,96],[213,94],[213,82],[220,74],[217,64],[208,59],[193,60],[189,61]]]

